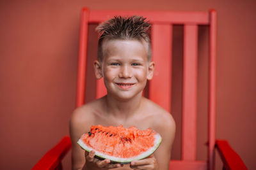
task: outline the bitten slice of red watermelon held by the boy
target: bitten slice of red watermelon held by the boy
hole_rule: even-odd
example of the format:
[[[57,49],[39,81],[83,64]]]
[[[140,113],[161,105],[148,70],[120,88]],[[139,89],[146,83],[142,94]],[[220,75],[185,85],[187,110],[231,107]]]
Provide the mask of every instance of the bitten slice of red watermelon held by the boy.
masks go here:
[[[87,152],[112,162],[129,163],[140,160],[156,151],[162,138],[152,129],[140,131],[136,127],[103,127],[92,125],[90,132],[83,134],[77,143]]]

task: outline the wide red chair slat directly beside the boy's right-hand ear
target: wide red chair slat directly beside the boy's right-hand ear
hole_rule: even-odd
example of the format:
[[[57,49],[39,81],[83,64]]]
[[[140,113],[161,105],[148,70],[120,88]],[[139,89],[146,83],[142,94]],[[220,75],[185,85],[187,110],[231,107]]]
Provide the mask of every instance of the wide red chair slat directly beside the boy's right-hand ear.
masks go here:
[[[153,24],[152,60],[156,63],[154,78],[149,85],[149,98],[171,111],[172,89],[172,25]]]

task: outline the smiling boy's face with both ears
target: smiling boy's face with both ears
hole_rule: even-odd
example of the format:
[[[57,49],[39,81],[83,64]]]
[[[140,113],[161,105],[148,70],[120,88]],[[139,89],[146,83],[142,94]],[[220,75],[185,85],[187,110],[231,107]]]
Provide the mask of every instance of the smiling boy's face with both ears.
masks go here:
[[[108,94],[121,100],[141,95],[153,76],[147,43],[138,40],[109,40],[102,45],[102,62],[95,61],[97,78],[104,78]]]

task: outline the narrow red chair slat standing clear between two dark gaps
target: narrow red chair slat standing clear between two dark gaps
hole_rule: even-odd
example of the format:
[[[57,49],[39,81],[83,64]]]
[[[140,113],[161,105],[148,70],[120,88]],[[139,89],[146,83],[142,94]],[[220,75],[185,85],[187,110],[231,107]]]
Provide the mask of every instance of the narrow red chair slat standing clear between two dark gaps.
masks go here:
[[[182,160],[196,159],[196,80],[198,26],[184,25]]]

